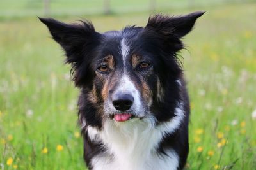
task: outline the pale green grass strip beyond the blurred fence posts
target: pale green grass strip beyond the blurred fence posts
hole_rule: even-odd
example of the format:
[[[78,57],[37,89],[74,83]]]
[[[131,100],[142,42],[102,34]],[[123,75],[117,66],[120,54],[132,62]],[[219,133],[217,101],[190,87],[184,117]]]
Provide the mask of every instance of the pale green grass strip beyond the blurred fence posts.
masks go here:
[[[49,0],[50,13],[54,16],[80,16],[104,13],[105,0]],[[151,0],[110,0],[111,13],[131,13],[150,11]],[[253,0],[244,0],[250,2]],[[191,6],[222,5],[223,3],[241,3],[241,0],[155,0],[156,10],[174,10]],[[44,0],[1,0],[0,17],[20,17],[44,15]],[[0,18],[1,19],[1,18]]]

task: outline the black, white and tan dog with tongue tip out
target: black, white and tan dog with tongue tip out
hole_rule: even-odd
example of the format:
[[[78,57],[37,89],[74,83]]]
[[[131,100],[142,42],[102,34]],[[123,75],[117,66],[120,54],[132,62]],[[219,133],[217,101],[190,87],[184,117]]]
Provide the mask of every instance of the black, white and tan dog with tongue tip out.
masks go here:
[[[203,14],[158,14],[104,33],[88,21],[39,18],[72,64],[88,169],[184,168],[190,109],[179,51]]]

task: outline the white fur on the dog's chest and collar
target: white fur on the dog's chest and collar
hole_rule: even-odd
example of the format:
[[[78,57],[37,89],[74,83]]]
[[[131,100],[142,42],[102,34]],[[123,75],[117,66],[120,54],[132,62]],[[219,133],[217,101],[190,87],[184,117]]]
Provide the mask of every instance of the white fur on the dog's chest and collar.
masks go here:
[[[102,131],[88,127],[89,137],[103,141],[108,150],[108,153],[93,157],[93,170],[177,169],[179,157],[174,150],[166,150],[167,155],[161,156],[156,151],[164,134],[172,133],[182,122],[183,110],[176,108],[175,112],[176,117],[157,127],[150,118],[134,118],[129,122],[107,120]]]

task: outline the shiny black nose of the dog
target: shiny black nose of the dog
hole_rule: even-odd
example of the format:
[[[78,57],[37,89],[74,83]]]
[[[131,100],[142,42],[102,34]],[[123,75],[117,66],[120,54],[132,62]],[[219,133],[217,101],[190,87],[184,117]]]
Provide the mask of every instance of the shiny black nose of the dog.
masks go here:
[[[131,94],[116,94],[113,96],[112,101],[116,110],[125,111],[131,108],[134,99]]]

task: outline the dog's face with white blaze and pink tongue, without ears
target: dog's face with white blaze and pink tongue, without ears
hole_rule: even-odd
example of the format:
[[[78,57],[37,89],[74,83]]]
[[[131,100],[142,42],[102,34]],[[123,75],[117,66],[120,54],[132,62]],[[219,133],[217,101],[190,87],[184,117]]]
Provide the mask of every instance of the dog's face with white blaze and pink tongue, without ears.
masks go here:
[[[104,115],[116,121],[150,116],[154,97],[163,97],[158,76],[163,61],[152,51],[157,50],[154,38],[156,41],[158,37],[150,37],[141,27],[102,36],[99,53],[92,62],[92,102],[101,101]]]

